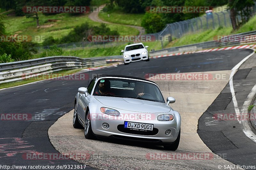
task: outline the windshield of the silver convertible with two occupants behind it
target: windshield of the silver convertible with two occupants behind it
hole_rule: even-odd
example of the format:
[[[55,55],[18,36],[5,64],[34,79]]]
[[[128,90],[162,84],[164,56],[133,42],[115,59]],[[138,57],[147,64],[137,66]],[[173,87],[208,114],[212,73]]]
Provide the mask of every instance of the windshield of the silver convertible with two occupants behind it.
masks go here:
[[[160,89],[152,83],[120,78],[99,79],[95,86],[94,96],[112,96],[164,102]]]

